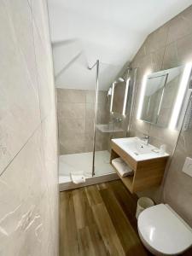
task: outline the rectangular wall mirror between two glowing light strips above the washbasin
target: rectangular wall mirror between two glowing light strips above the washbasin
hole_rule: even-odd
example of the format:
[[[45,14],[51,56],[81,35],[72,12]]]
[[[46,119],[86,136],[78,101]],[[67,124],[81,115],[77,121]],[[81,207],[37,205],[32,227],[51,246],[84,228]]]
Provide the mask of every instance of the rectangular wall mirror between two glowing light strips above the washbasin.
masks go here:
[[[143,90],[140,119],[167,127],[172,119],[178,90],[182,85],[184,67],[174,67],[148,75]],[[184,88],[183,88],[184,90]]]

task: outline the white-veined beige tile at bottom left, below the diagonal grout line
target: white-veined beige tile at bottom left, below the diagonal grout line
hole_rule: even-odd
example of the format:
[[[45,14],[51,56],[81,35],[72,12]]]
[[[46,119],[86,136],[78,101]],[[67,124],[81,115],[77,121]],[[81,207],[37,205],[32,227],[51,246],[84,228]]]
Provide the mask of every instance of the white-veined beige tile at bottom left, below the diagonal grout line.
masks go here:
[[[50,207],[55,204],[48,200],[48,173],[44,168],[41,135],[39,127],[0,177],[1,230],[3,234],[9,234],[1,236],[2,255],[18,253],[24,256],[35,253],[40,256],[55,253],[52,240],[55,228],[49,224],[49,221],[56,224],[54,216],[50,216]],[[50,195],[52,194],[53,188]],[[46,201],[44,197],[47,198]]]

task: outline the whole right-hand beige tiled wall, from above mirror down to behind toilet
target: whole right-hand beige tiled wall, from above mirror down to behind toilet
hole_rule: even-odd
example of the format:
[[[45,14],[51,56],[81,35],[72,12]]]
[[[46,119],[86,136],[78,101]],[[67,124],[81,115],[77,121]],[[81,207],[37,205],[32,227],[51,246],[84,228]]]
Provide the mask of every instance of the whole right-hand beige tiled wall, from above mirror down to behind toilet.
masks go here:
[[[143,75],[149,69],[151,72],[156,72],[160,69],[184,65],[188,61],[192,61],[192,6],[148,35],[143,46],[131,62],[131,67],[138,67],[136,108],[131,124],[131,136],[141,136],[143,132],[148,133],[150,135],[150,142],[155,146],[159,147],[160,144],[166,143],[170,154],[172,154],[173,148],[177,143],[178,132],[149,125],[136,119],[141,85]],[[190,135],[190,132],[184,133],[185,143],[189,143]],[[190,143],[188,148],[184,148],[182,153],[181,148],[183,147],[184,137],[183,133],[179,137],[179,145],[174,154],[172,166],[168,170],[165,199],[176,207],[176,210],[182,212],[183,217],[189,220],[192,211],[191,206],[189,206],[192,177],[186,177],[181,172],[181,169],[184,157],[190,154],[192,148]],[[145,195],[152,196],[157,200],[159,196],[157,192],[154,189],[153,191],[146,191]]]

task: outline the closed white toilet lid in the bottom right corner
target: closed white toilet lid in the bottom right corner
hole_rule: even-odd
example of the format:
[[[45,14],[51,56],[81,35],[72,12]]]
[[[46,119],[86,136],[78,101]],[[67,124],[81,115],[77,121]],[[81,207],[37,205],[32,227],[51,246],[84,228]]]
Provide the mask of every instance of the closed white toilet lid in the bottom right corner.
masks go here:
[[[183,253],[192,245],[192,229],[168,205],[149,207],[138,217],[144,241],[165,254]]]

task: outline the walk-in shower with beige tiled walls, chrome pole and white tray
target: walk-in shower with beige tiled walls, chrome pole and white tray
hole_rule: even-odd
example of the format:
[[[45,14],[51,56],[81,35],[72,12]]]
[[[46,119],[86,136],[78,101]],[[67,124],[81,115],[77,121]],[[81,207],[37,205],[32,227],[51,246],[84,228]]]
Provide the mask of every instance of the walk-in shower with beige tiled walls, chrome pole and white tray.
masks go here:
[[[114,82],[109,90],[100,90],[99,61],[89,67],[96,73],[95,90],[57,89],[59,124],[60,190],[117,179],[110,165],[110,140],[125,137],[131,108],[131,88],[127,71],[125,78]],[[119,94],[114,90],[119,84]],[[122,95],[123,88],[125,93]],[[130,86],[131,87],[131,86]],[[124,113],[113,112],[123,97]],[[115,107],[116,106],[116,107]]]

